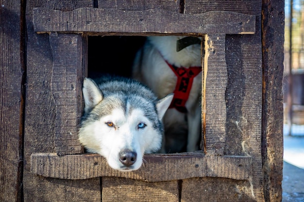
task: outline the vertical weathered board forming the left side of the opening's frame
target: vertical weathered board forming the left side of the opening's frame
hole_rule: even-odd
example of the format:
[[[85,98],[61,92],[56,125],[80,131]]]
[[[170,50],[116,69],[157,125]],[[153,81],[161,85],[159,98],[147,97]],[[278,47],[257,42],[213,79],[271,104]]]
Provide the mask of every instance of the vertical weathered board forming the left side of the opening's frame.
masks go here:
[[[55,103],[55,151],[80,154],[77,126],[83,113],[83,39],[79,34],[51,33],[51,93]]]

